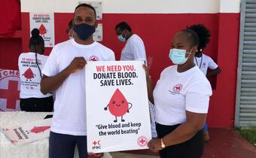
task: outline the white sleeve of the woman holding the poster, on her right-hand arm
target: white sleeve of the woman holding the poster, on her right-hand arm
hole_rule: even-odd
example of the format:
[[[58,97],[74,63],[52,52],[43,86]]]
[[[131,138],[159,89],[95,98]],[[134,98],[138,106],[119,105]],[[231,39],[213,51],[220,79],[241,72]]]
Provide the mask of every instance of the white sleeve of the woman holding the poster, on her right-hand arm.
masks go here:
[[[212,87],[205,82],[198,82],[187,88],[186,111],[207,114],[209,97],[212,96]]]

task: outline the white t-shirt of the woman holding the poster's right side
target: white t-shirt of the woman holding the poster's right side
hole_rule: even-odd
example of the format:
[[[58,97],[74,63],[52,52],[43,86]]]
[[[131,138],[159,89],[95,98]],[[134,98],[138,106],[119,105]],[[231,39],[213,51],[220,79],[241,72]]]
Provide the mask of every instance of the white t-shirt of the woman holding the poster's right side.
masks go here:
[[[165,68],[154,88],[156,122],[172,126],[184,123],[186,111],[207,114],[212,87],[197,66],[179,73],[178,66]]]

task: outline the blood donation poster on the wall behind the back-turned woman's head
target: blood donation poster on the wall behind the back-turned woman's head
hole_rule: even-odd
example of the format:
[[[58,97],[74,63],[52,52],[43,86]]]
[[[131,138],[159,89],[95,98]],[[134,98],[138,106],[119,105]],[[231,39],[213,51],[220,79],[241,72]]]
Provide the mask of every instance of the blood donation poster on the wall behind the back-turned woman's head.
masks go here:
[[[39,29],[40,35],[44,38],[45,47],[53,47],[54,40],[54,14],[53,13],[30,13],[30,32],[32,29]],[[31,36],[31,34],[30,34]]]

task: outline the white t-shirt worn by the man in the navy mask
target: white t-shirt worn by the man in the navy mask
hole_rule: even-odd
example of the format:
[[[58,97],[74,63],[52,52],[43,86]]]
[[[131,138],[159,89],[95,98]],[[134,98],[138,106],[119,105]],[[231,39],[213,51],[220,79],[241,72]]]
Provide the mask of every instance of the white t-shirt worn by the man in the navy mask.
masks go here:
[[[48,77],[54,76],[78,56],[83,56],[87,61],[114,60],[114,52],[96,41],[83,45],[71,39],[53,47],[42,72]],[[87,135],[85,95],[83,68],[69,74],[56,90],[51,131],[68,135]]]

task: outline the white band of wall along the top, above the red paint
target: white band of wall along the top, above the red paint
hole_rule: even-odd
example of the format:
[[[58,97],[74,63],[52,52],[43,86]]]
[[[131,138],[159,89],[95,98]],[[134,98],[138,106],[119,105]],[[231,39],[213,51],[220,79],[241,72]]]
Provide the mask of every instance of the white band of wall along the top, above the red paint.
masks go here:
[[[22,12],[73,13],[83,0],[20,0]],[[88,0],[109,14],[239,13],[240,0]]]

